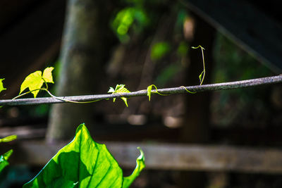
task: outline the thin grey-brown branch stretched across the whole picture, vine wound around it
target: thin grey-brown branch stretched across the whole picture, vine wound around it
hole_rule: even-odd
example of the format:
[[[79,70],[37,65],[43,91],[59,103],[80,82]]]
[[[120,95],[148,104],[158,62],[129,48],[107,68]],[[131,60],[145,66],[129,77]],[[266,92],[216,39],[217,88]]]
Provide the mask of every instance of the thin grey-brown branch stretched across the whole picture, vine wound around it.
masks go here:
[[[282,82],[282,75],[273,77],[262,77],[252,80],[243,80],[237,82],[224,82],[219,84],[204,84],[188,87],[173,87],[165,89],[152,89],[152,94],[184,94],[188,93],[187,90],[191,92],[207,92],[216,90],[226,90],[226,89],[238,89],[243,87],[253,87],[263,84],[276,84]],[[8,99],[0,100],[0,106],[19,106],[19,105],[35,105],[35,104],[58,104],[66,103],[68,101],[94,101],[102,99],[113,99],[121,97],[131,97],[131,96],[147,96],[147,90],[140,90],[137,92],[122,93],[122,94],[96,94],[96,95],[84,95],[84,96],[60,96],[54,97],[42,97],[42,98],[30,98],[30,99]]]

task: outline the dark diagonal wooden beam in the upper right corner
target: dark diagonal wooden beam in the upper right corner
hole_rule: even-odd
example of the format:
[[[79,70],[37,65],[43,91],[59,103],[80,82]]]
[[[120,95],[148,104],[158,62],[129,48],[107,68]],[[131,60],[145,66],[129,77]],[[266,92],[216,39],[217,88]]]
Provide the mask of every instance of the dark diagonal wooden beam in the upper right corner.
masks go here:
[[[183,0],[183,4],[276,73],[282,73],[282,26],[238,0]]]

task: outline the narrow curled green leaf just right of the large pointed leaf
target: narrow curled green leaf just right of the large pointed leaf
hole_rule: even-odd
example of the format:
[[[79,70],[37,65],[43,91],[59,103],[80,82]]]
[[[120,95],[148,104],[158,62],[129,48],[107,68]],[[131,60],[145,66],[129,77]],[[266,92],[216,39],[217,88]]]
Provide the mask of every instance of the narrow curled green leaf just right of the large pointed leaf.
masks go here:
[[[135,178],[140,175],[140,172],[145,168],[145,156],[144,152],[140,147],[137,147],[140,150],[140,156],[136,159],[136,168],[133,173],[128,177],[123,177],[123,188],[127,188],[130,184],[133,183]]]

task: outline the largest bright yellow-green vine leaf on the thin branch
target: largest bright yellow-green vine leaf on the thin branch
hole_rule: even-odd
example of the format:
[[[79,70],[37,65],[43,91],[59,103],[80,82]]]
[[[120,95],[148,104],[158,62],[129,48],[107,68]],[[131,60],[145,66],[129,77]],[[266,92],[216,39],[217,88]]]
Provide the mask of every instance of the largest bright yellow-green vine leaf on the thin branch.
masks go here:
[[[42,85],[44,82],[49,82],[49,83],[54,83],[53,77],[51,75],[51,71],[54,68],[49,67],[45,68],[43,75],[42,71],[37,70],[35,73],[31,73],[27,77],[25,77],[25,80],[23,83],[20,85],[20,94],[25,90],[25,89],[30,89],[30,92],[33,94],[33,96],[36,98],[39,89],[41,89]]]

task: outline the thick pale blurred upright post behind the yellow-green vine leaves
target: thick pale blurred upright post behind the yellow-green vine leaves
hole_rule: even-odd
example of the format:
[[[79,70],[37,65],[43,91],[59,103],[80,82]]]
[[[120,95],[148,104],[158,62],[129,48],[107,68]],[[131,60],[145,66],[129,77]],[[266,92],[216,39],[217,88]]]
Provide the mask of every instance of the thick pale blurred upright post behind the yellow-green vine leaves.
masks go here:
[[[68,1],[57,96],[94,94],[113,41],[111,7],[111,1]],[[92,117],[92,104],[54,104],[47,141],[71,139],[80,123],[94,127]]]

